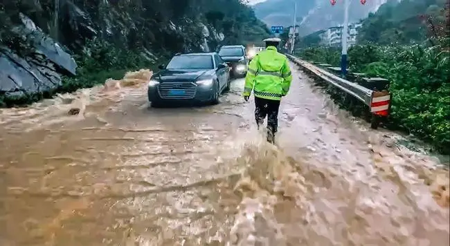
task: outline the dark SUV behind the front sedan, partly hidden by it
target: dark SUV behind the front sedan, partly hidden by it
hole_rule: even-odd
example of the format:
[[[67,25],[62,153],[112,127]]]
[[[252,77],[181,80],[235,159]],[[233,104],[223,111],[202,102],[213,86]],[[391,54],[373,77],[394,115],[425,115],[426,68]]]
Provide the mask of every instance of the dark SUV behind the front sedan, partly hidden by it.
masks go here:
[[[244,46],[222,46],[219,55],[231,68],[231,73],[235,77],[245,76],[248,68],[248,59]]]

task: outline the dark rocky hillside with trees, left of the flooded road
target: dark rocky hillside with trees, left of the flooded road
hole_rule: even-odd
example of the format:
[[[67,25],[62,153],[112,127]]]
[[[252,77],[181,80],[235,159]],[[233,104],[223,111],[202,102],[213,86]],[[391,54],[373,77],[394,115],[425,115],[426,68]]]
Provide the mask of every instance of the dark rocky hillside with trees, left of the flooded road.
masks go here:
[[[57,88],[60,74],[77,73],[72,57],[100,59],[111,47],[152,62],[170,53],[243,44],[267,35],[267,27],[241,0],[2,1],[0,97]],[[93,39],[109,50],[93,57],[88,46]]]

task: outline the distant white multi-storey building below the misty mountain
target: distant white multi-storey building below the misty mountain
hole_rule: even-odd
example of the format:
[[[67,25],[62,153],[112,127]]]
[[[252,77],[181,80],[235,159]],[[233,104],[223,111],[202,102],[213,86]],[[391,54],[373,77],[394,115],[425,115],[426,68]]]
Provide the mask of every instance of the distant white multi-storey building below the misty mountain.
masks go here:
[[[361,23],[352,23],[348,25],[348,46],[352,46],[357,42],[357,33],[358,28],[361,26]],[[342,31],[343,26],[334,26],[332,28],[328,28],[323,34],[321,34],[322,44],[325,46],[341,46],[342,44]]]

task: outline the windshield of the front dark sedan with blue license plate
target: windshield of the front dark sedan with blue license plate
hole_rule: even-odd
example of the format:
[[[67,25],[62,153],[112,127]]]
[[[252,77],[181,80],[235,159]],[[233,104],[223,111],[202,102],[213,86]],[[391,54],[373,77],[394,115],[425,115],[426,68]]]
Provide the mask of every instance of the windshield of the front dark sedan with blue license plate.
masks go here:
[[[213,69],[213,57],[210,55],[177,55],[173,57],[167,69]]]

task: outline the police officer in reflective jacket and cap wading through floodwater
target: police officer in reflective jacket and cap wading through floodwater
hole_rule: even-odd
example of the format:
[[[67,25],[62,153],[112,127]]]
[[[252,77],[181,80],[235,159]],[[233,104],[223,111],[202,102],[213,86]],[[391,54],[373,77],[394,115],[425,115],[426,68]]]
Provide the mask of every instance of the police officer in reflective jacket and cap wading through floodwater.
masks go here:
[[[258,129],[267,116],[267,141],[273,144],[278,130],[278,108],[281,97],[287,95],[292,75],[287,57],[278,53],[281,39],[264,39],[266,49],[255,55],[245,77],[244,100],[255,94],[255,120]]]

